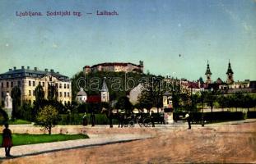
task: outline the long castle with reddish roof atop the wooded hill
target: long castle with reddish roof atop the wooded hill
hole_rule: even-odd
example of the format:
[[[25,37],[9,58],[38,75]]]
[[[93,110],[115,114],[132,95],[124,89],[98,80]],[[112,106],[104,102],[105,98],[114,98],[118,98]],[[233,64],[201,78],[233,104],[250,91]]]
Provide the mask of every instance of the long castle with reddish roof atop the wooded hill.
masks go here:
[[[139,65],[130,62],[105,62],[96,64],[94,66],[85,66],[83,68],[84,74],[97,71],[113,71],[113,72],[137,72],[143,73],[143,62]]]

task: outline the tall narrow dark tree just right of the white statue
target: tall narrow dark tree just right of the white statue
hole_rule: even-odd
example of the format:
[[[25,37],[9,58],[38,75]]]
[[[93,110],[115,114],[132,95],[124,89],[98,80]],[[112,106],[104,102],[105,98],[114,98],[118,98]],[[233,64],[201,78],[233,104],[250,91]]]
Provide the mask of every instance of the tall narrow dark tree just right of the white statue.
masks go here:
[[[16,119],[18,116],[18,107],[21,106],[21,89],[15,86],[12,89],[12,120]]]

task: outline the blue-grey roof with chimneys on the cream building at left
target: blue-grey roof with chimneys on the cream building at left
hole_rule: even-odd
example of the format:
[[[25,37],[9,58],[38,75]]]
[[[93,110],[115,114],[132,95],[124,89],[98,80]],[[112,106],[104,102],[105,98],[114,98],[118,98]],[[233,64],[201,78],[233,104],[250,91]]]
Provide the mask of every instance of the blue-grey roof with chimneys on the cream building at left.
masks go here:
[[[15,78],[25,78],[25,77],[33,77],[33,78],[42,78],[45,75],[52,75],[58,80],[67,80],[69,81],[69,78],[66,75],[61,75],[59,72],[54,72],[54,70],[48,70],[44,69],[44,71],[38,70],[37,67],[33,69],[30,69],[30,66],[27,66],[26,68],[24,66],[21,66],[21,69],[16,69],[16,66],[13,67],[13,69],[9,69],[6,73],[0,74],[0,80],[3,79],[15,79]]]

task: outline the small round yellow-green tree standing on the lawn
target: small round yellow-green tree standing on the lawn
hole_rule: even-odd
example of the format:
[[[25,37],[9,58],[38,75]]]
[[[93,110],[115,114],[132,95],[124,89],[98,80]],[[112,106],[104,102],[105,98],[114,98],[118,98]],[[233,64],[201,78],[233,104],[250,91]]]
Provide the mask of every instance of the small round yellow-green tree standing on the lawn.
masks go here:
[[[52,132],[52,128],[57,124],[58,121],[58,110],[47,105],[43,107],[36,116],[36,123],[44,127],[44,130],[48,130],[49,134]]]

